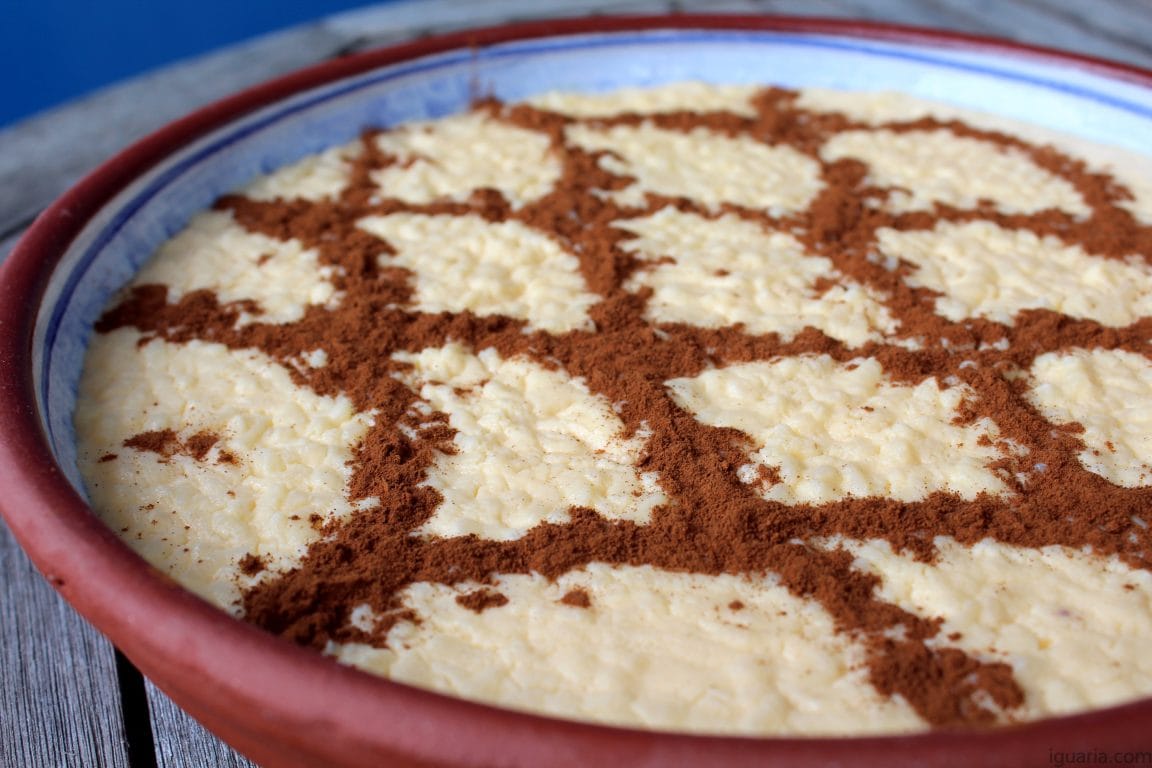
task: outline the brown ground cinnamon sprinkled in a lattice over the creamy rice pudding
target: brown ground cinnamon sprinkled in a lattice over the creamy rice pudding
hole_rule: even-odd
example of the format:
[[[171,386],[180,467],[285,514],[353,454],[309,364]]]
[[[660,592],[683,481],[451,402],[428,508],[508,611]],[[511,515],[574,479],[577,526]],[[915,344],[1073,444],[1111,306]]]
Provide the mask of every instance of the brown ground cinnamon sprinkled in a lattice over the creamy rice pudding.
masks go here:
[[[650,195],[644,207],[622,208],[602,191],[626,187],[630,180],[605,170],[600,154],[564,144],[563,128],[574,119],[486,101],[477,108],[551,138],[563,173],[541,199],[518,210],[495,190],[479,190],[465,201],[430,205],[389,199],[387,190],[372,185],[371,172],[394,159],[376,150],[372,134],[367,134],[353,183],[339,200],[265,201],[228,196],[218,203],[244,227],[279,239],[297,238],[317,250],[321,264],[338,267],[338,288],[344,291],[339,306],[310,306],[300,321],[287,325],[237,325],[242,312],[258,318],[259,307],[251,302],[221,303],[207,291],[173,302],[164,287],[144,286],[105,314],[99,330],[131,326],[143,332],[142,343],[150,339],[177,343],[202,339],[262,350],[282,364],[297,385],[320,394],[347,394],[357,409],[377,412],[376,426],[356,448],[348,487],[353,501],[378,497],[379,507],[326,525],[324,537],[297,568],[249,588],[243,596],[249,621],[317,648],[348,640],[384,646],[397,621],[417,619],[397,598],[417,581],[492,584],[500,575],[532,572],[555,579],[590,563],[706,575],[774,573],[795,595],[818,601],[840,632],[863,644],[870,679],[878,691],[902,695],[927,722],[988,724],[998,721],[1000,712],[1010,713],[1023,702],[1023,691],[1007,664],[980,661],[948,647],[948,641],[958,638],[940,637],[940,619],[916,616],[880,600],[878,577],[854,569],[847,550],[812,542],[838,535],[882,539],[896,550],[931,561],[937,537],[952,537],[962,543],[991,538],[1017,547],[1090,547],[1100,555],[1117,555],[1129,565],[1149,568],[1152,537],[1147,529],[1135,525],[1132,517],[1152,509],[1152,489],[1121,488],[1086,471],[1077,459],[1084,443],[1076,429],[1053,428],[1024,397],[1023,382],[1005,373],[1028,370],[1039,355],[1070,348],[1126,349],[1152,357],[1152,319],[1111,328],[1046,310],[1026,310],[1010,325],[985,319],[950,322],[934,313],[933,291],[907,284],[907,268],[886,269],[869,253],[884,227],[929,229],[940,221],[985,219],[1054,235],[1101,258],[1152,261],[1152,229],[1120,205],[1129,198],[1121,184],[1089,172],[1054,147],[1034,146],[957,121],[923,119],[869,127],[842,115],[801,109],[795,94],[781,89],[764,90],[756,106],[753,117],[685,112],[592,122],[650,120],[661,128],[684,131],[707,127],[793,146],[821,167],[824,189],[805,211],[772,218],[737,205],[710,210],[692,200],[657,195]],[[1083,219],[1059,211],[1009,215],[988,205],[969,211],[940,204],[930,212],[885,212],[874,203],[887,191],[869,185],[864,164],[825,162],[818,154],[836,132],[872,129],[950,131],[1023,152],[1073,183],[1091,213]],[[831,259],[842,275],[887,296],[885,303],[899,321],[899,330],[884,343],[849,348],[814,328],[783,340],[774,334],[748,334],[738,326],[652,324],[644,317],[647,294],[622,288],[641,265],[621,248],[629,235],[613,222],[667,205],[705,218],[730,213],[766,230],[796,234],[811,253]],[[399,211],[469,213],[491,221],[515,219],[547,233],[578,258],[589,289],[601,297],[590,312],[596,330],[528,332],[518,319],[410,309],[411,275],[389,266],[389,246],[356,226],[362,216]],[[820,286],[823,290],[831,287]],[[916,351],[890,343],[911,339],[920,340]],[[573,509],[570,522],[541,523],[511,541],[412,535],[440,502],[438,493],[422,481],[438,453],[455,450],[454,432],[442,413],[414,416],[410,405],[417,395],[392,375],[399,370],[392,356],[448,341],[472,350],[492,348],[506,357],[526,356],[583,378],[593,393],[619,404],[629,432],[637,432],[642,424],[651,431],[642,469],[658,473],[669,503],[657,509],[647,525]],[[324,367],[291,364],[301,353],[316,349],[327,353]],[[751,448],[746,436],[700,424],[673,402],[664,382],[698,374],[708,366],[801,353],[826,353],[841,362],[871,356],[892,379],[904,383],[931,377],[963,381],[976,396],[964,403],[960,418],[991,418],[1005,438],[1029,451],[1024,457],[1006,454],[996,467],[1014,494],[965,500],[938,492],[918,502],[849,497],[819,505],[765,501],[758,489],[779,481],[774,470],[767,467],[753,486],[736,478],[735,470],[746,462]],[[173,435],[138,435],[132,441],[137,443],[134,447],[162,455],[192,450]],[[1045,472],[1026,471],[1039,463],[1047,465]],[[314,599],[318,594],[325,595],[323,602]],[[507,602],[507,598],[485,588],[457,601],[480,611]],[[591,601],[586,593],[582,598],[581,591],[571,591],[562,602],[588,607]],[[386,617],[374,631],[350,624],[353,609],[363,604]],[[734,601],[729,608],[740,610],[743,603]]]

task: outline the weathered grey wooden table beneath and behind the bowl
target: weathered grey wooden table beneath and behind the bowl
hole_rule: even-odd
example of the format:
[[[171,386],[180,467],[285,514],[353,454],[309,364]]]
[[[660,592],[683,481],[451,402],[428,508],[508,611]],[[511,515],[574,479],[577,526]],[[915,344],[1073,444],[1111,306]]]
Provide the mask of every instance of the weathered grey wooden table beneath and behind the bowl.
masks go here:
[[[406,0],[167,67],[0,131],[0,259],[101,160],[233,91],[332,56],[545,16],[765,13],[1010,38],[1152,68],[1140,0]],[[0,766],[250,766],[142,678],[40,578],[0,523]]]

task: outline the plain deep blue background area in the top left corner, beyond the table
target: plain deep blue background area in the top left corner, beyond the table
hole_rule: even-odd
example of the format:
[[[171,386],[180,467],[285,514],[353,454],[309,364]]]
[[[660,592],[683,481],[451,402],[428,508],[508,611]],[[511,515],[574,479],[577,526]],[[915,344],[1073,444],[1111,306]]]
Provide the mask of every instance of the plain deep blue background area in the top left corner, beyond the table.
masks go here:
[[[161,64],[370,0],[0,0],[0,128]]]

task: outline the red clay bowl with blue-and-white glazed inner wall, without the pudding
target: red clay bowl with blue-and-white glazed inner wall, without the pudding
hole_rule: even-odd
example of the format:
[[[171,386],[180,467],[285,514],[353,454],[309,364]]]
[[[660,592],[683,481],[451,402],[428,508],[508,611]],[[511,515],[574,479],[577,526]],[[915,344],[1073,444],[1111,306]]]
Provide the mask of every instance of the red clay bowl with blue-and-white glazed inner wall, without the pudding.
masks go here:
[[[465,108],[476,86],[703,79],[899,90],[1140,151],[1152,74],[955,35],[748,17],[532,23],[332,61],[135,144],[29,230],[0,279],[0,508],[48,580],[207,728],[266,766],[1047,765],[1146,746],[1152,701],[990,732],[719,738],[596,727],[419,691],[340,667],[212,608],[90,511],[71,412],[92,322],[196,211],[252,176],[392,126]]]

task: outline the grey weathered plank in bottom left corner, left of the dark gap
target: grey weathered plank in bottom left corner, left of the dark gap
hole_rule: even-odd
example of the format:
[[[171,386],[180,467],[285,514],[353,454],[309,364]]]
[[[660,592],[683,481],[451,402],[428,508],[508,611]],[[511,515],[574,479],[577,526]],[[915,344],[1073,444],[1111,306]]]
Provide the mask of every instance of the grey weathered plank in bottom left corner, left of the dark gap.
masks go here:
[[[0,522],[0,766],[128,766],[112,645]]]

